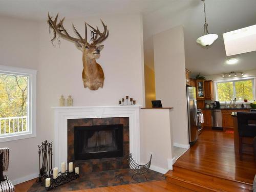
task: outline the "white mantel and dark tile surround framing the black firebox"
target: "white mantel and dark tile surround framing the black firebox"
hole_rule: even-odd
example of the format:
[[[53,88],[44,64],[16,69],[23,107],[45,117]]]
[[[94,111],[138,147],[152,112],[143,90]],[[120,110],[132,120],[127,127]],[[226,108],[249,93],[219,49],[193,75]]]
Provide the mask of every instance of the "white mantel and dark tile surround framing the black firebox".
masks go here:
[[[54,127],[54,166],[73,162],[80,173],[127,168],[129,153],[140,162],[140,106],[83,106],[57,107]],[[95,125],[119,125],[122,128],[123,155],[100,159],[77,160],[74,153],[74,130],[92,130]]]

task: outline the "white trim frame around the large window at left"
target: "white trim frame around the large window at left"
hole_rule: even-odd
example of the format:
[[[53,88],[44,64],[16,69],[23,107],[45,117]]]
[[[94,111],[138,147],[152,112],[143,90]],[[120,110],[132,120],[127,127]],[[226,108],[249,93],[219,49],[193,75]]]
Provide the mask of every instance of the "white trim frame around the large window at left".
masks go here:
[[[0,142],[13,141],[18,139],[27,139],[36,137],[36,70],[18,68],[11,66],[0,65],[0,72],[5,74],[17,74],[29,76],[29,89],[28,89],[28,119],[29,119],[29,131],[19,132],[19,134],[10,134],[0,137]]]

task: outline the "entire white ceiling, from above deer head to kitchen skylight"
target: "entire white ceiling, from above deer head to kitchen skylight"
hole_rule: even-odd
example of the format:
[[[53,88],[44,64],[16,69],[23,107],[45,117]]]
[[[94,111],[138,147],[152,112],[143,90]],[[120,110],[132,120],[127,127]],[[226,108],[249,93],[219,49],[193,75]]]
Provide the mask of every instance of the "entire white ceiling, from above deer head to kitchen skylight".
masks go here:
[[[184,26],[186,67],[194,74],[219,74],[256,69],[256,52],[237,57],[239,63],[225,65],[222,33],[256,24],[255,0],[205,0],[209,32],[218,40],[205,49],[196,44],[203,33],[201,0],[0,0],[0,15],[45,20],[47,12],[67,18],[113,14],[143,14],[144,39],[160,31]]]

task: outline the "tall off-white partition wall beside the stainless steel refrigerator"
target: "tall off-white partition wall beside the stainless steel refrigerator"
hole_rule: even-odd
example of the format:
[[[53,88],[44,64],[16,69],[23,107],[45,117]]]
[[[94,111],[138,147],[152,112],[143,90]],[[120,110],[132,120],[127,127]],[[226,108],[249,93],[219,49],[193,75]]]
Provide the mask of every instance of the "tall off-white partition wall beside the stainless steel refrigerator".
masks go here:
[[[183,27],[154,35],[156,99],[173,107],[174,143],[188,145]]]

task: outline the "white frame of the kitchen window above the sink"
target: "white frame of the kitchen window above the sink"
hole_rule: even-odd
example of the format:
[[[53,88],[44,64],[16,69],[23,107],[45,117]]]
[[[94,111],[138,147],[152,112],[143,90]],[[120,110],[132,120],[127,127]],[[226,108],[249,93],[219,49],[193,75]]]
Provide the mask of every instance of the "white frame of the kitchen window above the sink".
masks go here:
[[[220,82],[232,82],[233,83],[233,96],[235,97],[236,95],[236,89],[234,87],[234,82],[237,81],[244,81],[244,80],[252,80],[252,94],[253,94],[253,99],[256,100],[256,93],[255,93],[255,86],[256,86],[256,77],[236,77],[236,78],[230,78],[230,79],[221,79],[221,80],[216,80],[214,81],[214,91],[215,91],[215,99],[218,101],[218,91],[217,91],[217,83]],[[234,98],[233,98],[234,99]],[[228,102],[228,101],[227,101]],[[220,101],[220,103],[225,103],[225,101]],[[236,103],[244,103],[243,101],[236,101]]]

